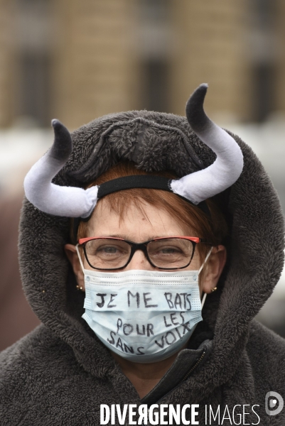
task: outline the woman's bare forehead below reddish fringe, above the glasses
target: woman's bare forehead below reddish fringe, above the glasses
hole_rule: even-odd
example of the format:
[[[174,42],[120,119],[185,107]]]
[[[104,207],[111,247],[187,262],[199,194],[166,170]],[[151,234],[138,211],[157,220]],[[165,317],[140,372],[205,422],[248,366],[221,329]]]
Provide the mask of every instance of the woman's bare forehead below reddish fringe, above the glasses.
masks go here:
[[[144,202],[141,208],[130,203],[123,217],[109,207],[104,199],[97,204],[88,222],[87,236],[119,236],[134,242],[157,236],[190,236],[190,228],[178,222],[165,209]]]

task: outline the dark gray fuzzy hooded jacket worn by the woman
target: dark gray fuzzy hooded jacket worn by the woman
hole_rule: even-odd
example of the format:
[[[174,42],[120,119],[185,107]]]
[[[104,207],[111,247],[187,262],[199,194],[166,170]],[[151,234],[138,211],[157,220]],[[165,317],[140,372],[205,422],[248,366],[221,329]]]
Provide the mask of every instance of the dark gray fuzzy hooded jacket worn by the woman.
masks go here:
[[[254,320],[281,274],[284,219],[259,160],[232,136],[242,148],[244,170],[218,196],[231,229],[226,271],[206,299],[189,349],[143,400],[81,318],[84,294],[76,290],[63,251],[69,219],[24,201],[21,276],[42,324],[0,354],[1,426],[100,425],[101,404],[198,404],[199,425],[285,425],[285,408],[269,415],[264,405],[269,391],[285,398],[285,341]],[[77,129],[72,141],[58,185],[82,187],[122,159],[178,176],[215,160],[188,121],[173,114],[110,114]],[[215,419],[209,420],[210,410]]]

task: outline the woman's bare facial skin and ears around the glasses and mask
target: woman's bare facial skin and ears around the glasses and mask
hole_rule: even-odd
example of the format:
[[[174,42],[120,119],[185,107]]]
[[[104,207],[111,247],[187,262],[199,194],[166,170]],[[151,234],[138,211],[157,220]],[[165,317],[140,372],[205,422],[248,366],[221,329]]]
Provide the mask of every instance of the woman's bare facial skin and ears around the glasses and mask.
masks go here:
[[[107,202],[104,202],[103,199],[98,203],[95,212],[88,222],[87,236],[113,236],[133,241],[134,243],[142,243],[161,236],[197,235],[195,235],[193,229],[173,219],[171,214],[163,209],[151,206],[151,204],[145,203],[143,205],[143,212],[137,209],[134,204],[129,204],[127,215],[124,217],[124,220],[122,220],[114,210],[109,209],[109,205]],[[84,289],[84,275],[75,251],[75,246],[66,244],[65,252],[72,263],[78,285]],[[82,256],[84,257],[83,253]],[[201,293],[202,291],[210,293],[211,289],[215,287],[220,273],[222,273],[222,268],[225,266],[225,260],[225,247],[215,247],[210,254],[208,262],[204,266],[205,271],[203,271],[203,280],[200,282]],[[85,258],[82,258],[82,261],[86,269],[92,269]],[[198,246],[196,246],[190,265],[187,268],[183,268],[183,271],[198,270],[200,265]],[[154,266],[151,266],[141,250],[137,250],[126,268],[120,271],[130,271],[134,269],[158,271]]]

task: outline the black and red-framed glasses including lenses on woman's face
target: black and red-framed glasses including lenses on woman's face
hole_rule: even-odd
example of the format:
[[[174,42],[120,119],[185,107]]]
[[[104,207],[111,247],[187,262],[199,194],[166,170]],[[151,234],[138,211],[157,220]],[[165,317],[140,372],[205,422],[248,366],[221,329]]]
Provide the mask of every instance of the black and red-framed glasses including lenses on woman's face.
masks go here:
[[[210,244],[197,236],[159,237],[139,244],[111,236],[93,236],[78,241],[91,268],[104,271],[124,269],[136,250],[143,251],[154,268],[187,268],[199,243]]]

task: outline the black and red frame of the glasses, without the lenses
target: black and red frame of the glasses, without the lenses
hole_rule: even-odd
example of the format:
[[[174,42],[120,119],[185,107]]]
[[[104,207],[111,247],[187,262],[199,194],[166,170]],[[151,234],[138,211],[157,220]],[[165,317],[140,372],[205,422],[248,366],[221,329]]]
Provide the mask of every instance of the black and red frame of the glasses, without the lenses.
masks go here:
[[[118,240],[119,241],[125,241],[127,244],[129,244],[129,246],[131,246],[131,253],[129,255],[129,260],[127,261],[127,263],[124,266],[120,266],[119,268],[96,268],[95,266],[92,266],[90,261],[88,260],[88,257],[87,257],[85,244],[88,241],[92,241],[92,240],[95,240],[95,239],[113,239],[113,240],[117,240],[117,241]],[[187,265],[183,266],[182,268],[160,268],[159,266],[154,265],[154,263],[152,263],[151,259],[149,258],[149,253],[147,252],[147,245],[149,243],[153,242],[153,241],[159,241],[161,239],[186,239],[188,241],[191,241],[192,246],[193,246],[193,252],[192,252],[192,256],[190,258],[190,261],[187,263]],[[91,266],[91,268],[93,268],[93,269],[97,269],[98,271],[118,271],[119,269],[126,268],[126,266],[129,265],[131,259],[134,256],[134,253],[136,253],[137,250],[143,251],[144,256],[146,256],[146,259],[149,261],[151,266],[153,266],[154,268],[163,269],[163,271],[174,271],[174,270],[177,270],[177,269],[187,268],[190,265],[190,263],[193,259],[193,256],[194,256],[195,247],[199,243],[211,244],[208,241],[205,241],[205,239],[199,238],[198,236],[161,236],[161,237],[158,237],[158,238],[151,239],[149,241],[144,241],[144,243],[139,243],[139,244],[134,243],[134,241],[128,241],[128,240],[125,240],[123,238],[117,238],[116,236],[90,236],[90,237],[87,237],[87,238],[79,239],[78,242],[77,242],[77,246],[82,246],[83,251],[84,251],[84,255],[85,255],[85,259],[87,260],[88,265]]]

